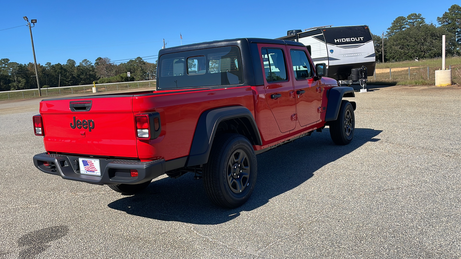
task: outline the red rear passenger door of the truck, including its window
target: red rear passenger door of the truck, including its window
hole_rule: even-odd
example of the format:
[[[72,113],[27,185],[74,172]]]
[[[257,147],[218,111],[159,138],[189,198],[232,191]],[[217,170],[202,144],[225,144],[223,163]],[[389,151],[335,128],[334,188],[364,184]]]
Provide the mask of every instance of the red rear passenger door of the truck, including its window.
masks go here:
[[[266,102],[277,121],[280,132],[296,127],[296,103],[293,98],[293,83],[284,45],[258,44],[261,64],[265,74]]]

